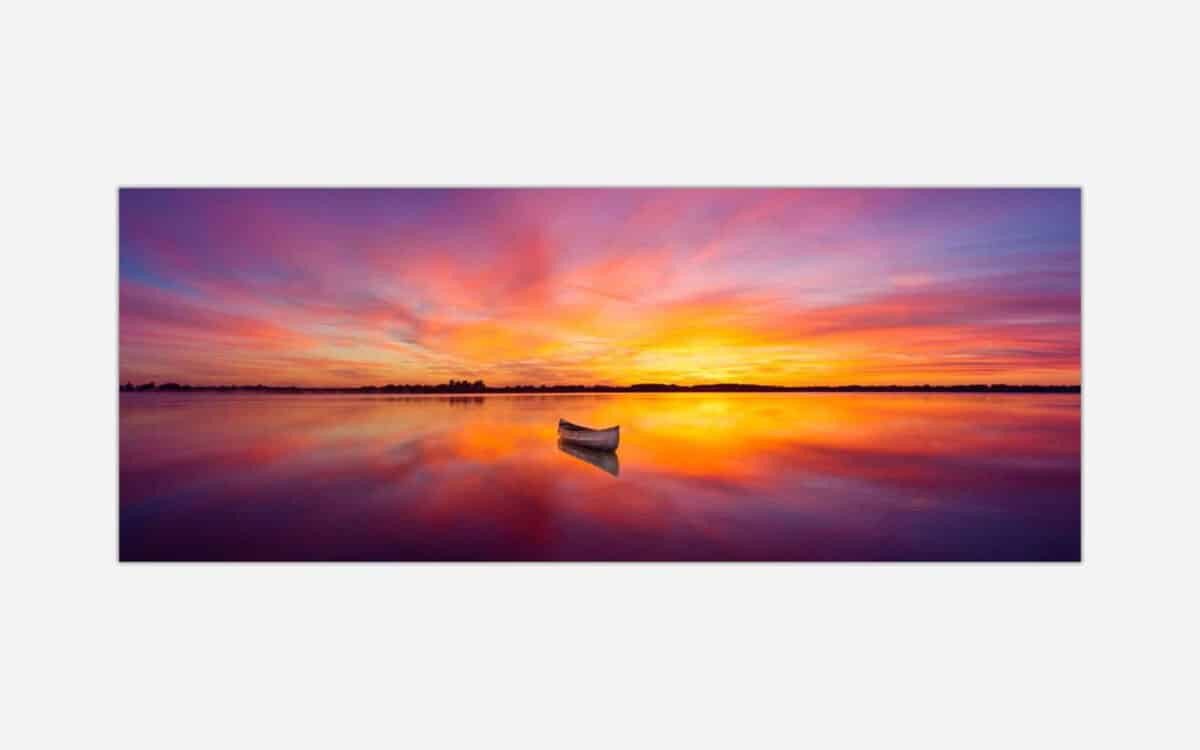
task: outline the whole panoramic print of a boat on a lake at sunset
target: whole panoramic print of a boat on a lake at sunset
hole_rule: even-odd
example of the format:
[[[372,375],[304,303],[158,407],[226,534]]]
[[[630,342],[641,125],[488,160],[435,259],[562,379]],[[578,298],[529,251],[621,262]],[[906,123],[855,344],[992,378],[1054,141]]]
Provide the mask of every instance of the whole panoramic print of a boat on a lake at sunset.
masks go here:
[[[126,562],[1081,559],[1075,188],[122,188]]]

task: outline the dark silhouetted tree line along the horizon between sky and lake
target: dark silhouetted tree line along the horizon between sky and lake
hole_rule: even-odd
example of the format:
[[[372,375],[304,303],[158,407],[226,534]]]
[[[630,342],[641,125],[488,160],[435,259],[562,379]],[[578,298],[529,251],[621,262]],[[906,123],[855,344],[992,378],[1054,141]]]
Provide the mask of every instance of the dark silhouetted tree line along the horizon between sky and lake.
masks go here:
[[[637,383],[623,385],[503,385],[488,388],[482,380],[454,380],[437,385],[361,385],[356,388],[300,388],[295,385],[180,385],[154,382],[126,383],[121,392],[134,391],[253,391],[270,394],[620,394],[620,392],[952,392],[952,394],[1078,394],[1079,385],[1008,385],[977,383],[971,385],[755,385],[716,383],[710,385],[674,385]]]

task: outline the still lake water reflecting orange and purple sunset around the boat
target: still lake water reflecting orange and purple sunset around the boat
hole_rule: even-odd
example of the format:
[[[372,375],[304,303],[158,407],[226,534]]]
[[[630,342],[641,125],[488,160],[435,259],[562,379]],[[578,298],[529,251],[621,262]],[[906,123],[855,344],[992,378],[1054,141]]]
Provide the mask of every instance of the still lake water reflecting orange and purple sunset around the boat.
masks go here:
[[[120,554],[1078,560],[1080,397],[121,394]]]

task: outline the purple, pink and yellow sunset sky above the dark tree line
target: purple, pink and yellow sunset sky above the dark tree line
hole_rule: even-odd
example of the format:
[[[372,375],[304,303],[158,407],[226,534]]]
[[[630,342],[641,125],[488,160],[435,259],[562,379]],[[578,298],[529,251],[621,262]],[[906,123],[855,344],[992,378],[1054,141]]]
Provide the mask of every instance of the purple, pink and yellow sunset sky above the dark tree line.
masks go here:
[[[1076,190],[122,190],[120,378],[1080,380]]]

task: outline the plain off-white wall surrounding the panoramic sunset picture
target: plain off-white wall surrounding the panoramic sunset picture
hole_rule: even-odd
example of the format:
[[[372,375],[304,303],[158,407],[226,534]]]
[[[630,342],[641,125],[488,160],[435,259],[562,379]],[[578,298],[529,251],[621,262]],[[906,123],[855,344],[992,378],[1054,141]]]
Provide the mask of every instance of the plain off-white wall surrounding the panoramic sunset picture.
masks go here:
[[[1186,4],[23,4],[7,748],[1195,746]],[[1082,185],[1082,565],[120,566],[119,185]],[[1189,697],[1190,696],[1190,697]]]

